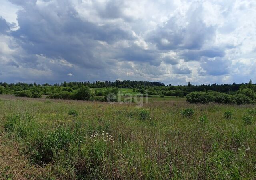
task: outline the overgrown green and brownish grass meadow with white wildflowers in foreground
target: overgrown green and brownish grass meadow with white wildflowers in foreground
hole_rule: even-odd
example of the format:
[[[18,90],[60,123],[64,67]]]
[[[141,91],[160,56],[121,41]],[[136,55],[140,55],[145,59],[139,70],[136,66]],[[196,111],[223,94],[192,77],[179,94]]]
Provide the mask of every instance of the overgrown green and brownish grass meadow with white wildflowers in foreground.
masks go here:
[[[1,95],[0,179],[256,179],[256,123],[242,121],[255,108]]]

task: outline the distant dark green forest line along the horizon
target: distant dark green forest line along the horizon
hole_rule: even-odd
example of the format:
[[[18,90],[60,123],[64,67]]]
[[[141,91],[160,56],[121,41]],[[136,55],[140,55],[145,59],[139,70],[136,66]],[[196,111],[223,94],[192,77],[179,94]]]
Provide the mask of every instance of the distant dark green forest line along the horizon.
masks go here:
[[[11,83],[11,84],[7,84],[5,82],[0,82],[0,86],[4,86],[5,88],[10,88],[12,86],[56,86],[56,87],[70,87],[72,89],[78,89],[79,87],[82,86],[88,86],[89,88],[105,88],[105,87],[110,87],[110,88],[136,88],[136,89],[147,89],[147,88],[151,88],[151,87],[155,87],[154,89],[161,89],[161,90],[182,90],[185,92],[193,92],[193,91],[208,91],[208,90],[212,90],[212,91],[216,91],[216,92],[224,92],[224,93],[228,93],[228,92],[236,92],[237,90],[239,90],[239,88],[241,86],[246,86],[248,85],[248,83],[240,83],[240,84],[202,84],[202,85],[192,85],[190,82],[188,82],[188,85],[178,85],[178,86],[172,86],[171,84],[169,84],[168,86],[166,86],[164,83],[161,82],[149,82],[149,81],[129,81],[129,80],[116,80],[114,82],[111,81],[105,81],[105,82],[101,82],[101,81],[96,81],[96,82],[92,82],[90,83],[89,81],[85,81],[85,82],[66,82],[64,81],[63,83],[58,83],[58,84],[27,84],[24,82],[18,82],[18,83]],[[255,85],[255,84],[254,84]],[[157,86],[157,87],[156,87]],[[16,90],[15,87],[10,88],[13,90]],[[27,89],[27,88],[25,88]],[[28,88],[29,89],[29,88]],[[256,90],[255,90],[256,91]]]

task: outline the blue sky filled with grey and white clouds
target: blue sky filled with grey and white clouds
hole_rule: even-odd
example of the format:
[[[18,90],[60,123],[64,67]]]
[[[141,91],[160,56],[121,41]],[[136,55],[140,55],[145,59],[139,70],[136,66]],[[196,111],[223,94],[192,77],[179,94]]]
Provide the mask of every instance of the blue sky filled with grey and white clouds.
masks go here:
[[[255,0],[1,0],[0,82],[256,83]]]

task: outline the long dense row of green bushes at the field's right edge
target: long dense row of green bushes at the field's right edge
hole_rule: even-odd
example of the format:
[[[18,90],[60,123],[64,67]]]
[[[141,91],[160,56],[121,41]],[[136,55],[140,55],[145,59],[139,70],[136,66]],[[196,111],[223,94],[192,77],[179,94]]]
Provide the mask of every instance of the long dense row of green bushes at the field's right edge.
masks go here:
[[[191,92],[186,96],[187,101],[190,103],[209,102],[224,103],[224,104],[251,104],[253,100],[242,93],[235,95],[228,95],[220,92]]]

